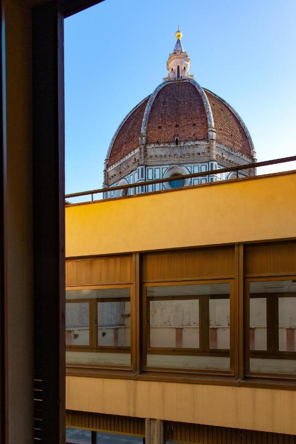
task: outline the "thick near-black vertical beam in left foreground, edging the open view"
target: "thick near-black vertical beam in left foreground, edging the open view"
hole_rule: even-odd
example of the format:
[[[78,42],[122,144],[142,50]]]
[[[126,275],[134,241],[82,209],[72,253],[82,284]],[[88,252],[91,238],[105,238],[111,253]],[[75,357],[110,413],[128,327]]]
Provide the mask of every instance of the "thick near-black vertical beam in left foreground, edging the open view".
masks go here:
[[[64,14],[33,13],[35,379],[42,443],[65,443]]]

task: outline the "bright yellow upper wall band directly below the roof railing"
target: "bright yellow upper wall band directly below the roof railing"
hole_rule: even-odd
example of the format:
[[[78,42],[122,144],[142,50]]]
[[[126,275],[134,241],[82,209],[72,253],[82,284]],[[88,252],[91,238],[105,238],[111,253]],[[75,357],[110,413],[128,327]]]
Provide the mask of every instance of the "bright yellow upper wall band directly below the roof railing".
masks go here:
[[[296,173],[66,208],[66,256],[296,237]]]

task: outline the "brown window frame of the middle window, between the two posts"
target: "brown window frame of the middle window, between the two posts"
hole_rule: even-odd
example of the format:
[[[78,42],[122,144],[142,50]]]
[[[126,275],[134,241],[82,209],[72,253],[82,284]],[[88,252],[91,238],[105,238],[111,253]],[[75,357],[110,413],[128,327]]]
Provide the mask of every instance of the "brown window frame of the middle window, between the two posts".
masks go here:
[[[224,284],[227,283],[230,286],[230,294],[229,294],[229,300],[230,300],[230,348],[229,352],[228,350],[223,349],[210,349],[210,342],[207,340],[207,338],[210,338],[210,330],[208,329],[207,324],[209,323],[207,320],[206,322],[201,323],[201,312],[202,309],[199,309],[199,328],[205,329],[207,328],[207,332],[204,334],[200,334],[200,344],[202,344],[202,347],[199,348],[171,348],[171,347],[150,347],[149,346],[149,304],[148,301],[150,299],[154,299],[155,297],[149,297],[147,296],[147,288],[149,287],[170,287],[170,286],[181,286],[181,285],[202,285],[202,284]],[[194,280],[182,280],[182,281],[168,281],[168,282],[153,282],[153,283],[144,283],[142,284],[142,297],[141,297],[141,305],[142,305],[142,363],[143,363],[143,372],[162,372],[162,373],[186,373],[188,375],[196,375],[196,374],[203,374],[203,375],[225,375],[225,376],[234,376],[234,347],[235,347],[235,337],[234,337],[234,330],[235,330],[235,295],[234,295],[234,279],[233,278],[226,278],[226,279],[194,279]],[[206,307],[206,311],[208,312],[208,305],[205,303],[205,299],[203,299],[203,296],[210,296],[210,295],[200,295],[200,296],[178,296],[179,299],[199,299],[201,302],[201,305]],[[218,296],[218,297],[216,297]],[[212,298],[227,298],[227,295],[211,295]],[[159,296],[159,300],[164,300],[164,298],[169,300],[176,299],[174,296],[167,296],[162,297]],[[202,300],[203,299],[203,300]],[[208,297],[208,300],[210,298]],[[202,338],[202,339],[201,339]],[[213,350],[213,351],[211,351]],[[225,357],[225,354],[227,353],[227,357],[229,356],[230,359],[230,369],[229,370],[203,370],[203,369],[180,369],[178,367],[176,368],[163,368],[163,367],[148,367],[147,366],[147,355],[149,352],[152,352],[152,354],[167,354],[167,355],[176,355],[176,356],[221,356]]]

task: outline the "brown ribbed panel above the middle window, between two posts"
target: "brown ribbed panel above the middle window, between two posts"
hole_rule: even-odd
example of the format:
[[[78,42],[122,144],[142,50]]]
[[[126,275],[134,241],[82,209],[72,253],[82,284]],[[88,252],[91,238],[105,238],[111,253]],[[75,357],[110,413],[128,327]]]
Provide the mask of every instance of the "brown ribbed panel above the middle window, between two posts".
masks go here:
[[[234,247],[147,253],[143,282],[234,276]]]

